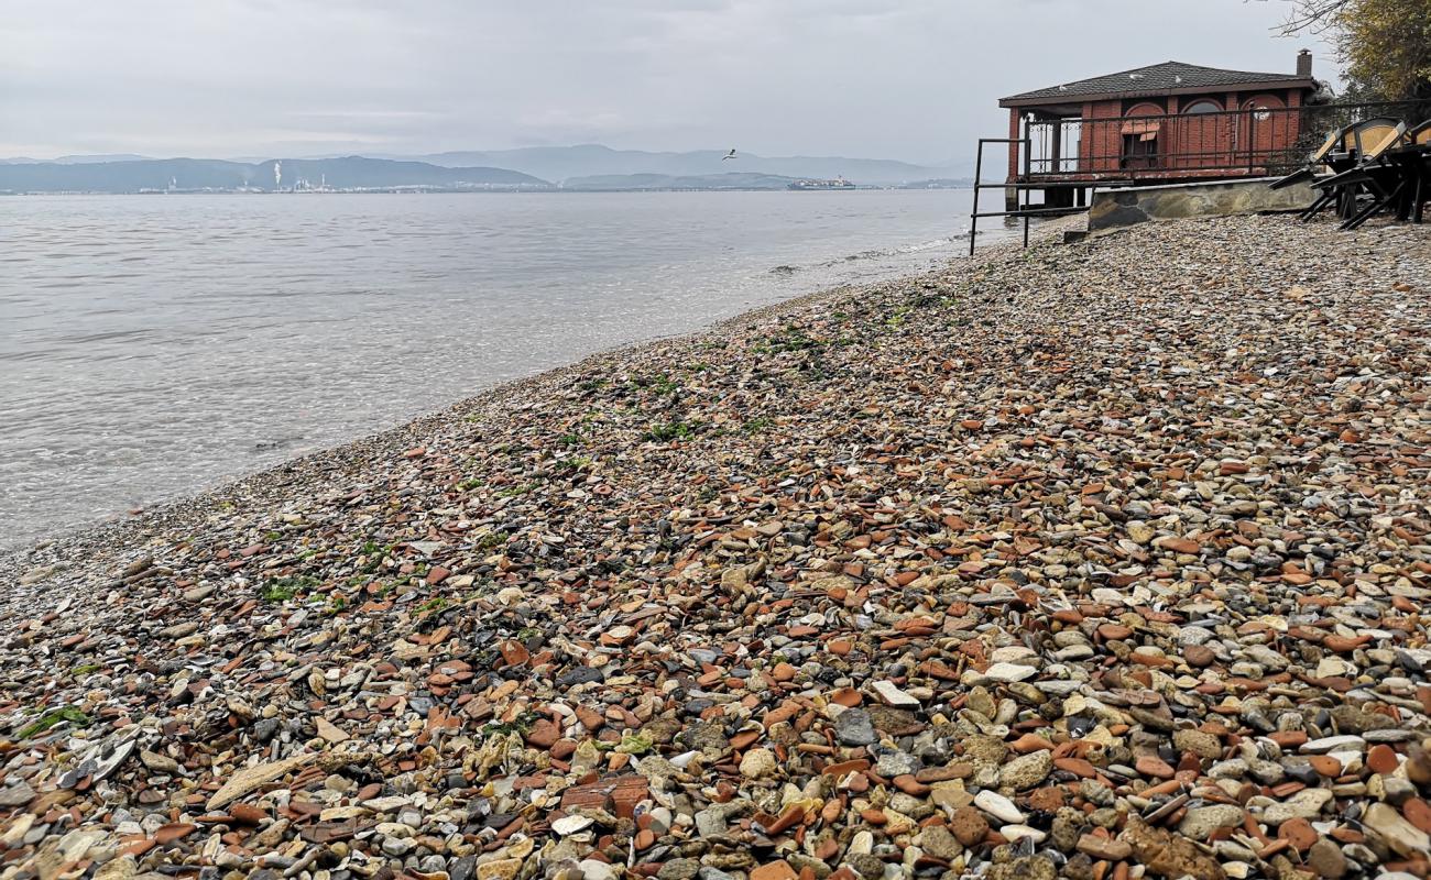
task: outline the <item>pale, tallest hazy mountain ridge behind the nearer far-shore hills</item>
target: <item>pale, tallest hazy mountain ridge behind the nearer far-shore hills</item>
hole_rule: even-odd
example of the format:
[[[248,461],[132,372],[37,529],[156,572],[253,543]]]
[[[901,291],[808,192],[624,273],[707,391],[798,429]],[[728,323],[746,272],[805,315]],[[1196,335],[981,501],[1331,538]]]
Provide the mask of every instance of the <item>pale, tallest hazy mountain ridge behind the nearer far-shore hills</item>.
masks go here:
[[[648,153],[645,150],[612,150],[600,145],[570,147],[524,147],[517,150],[456,152],[412,156],[432,165],[489,165],[509,167],[545,180],[598,175],[720,175],[750,172],[784,177],[844,176],[856,183],[904,183],[950,176],[947,169],[922,167],[892,159],[846,159],[839,156],[768,157],[738,153],[723,160],[727,150],[698,150],[691,153]]]

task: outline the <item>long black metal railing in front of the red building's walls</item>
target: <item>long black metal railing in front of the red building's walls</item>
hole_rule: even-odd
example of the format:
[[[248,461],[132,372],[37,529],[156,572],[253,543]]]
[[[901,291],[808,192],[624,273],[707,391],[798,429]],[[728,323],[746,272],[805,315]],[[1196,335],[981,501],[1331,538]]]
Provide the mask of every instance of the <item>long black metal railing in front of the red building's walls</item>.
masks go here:
[[[1420,122],[1417,103],[1339,103],[1215,110],[1193,102],[1182,113],[1110,119],[1025,120],[1027,153],[1016,182],[1098,182],[1282,175],[1299,167],[1327,132],[1391,116]]]

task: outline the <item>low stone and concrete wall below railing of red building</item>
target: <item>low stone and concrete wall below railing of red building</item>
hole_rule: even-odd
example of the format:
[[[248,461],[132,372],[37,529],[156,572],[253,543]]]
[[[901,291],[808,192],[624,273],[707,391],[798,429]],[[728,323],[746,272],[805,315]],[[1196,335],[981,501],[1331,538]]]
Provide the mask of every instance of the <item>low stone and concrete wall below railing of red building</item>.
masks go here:
[[[1268,189],[1272,180],[1274,177],[1259,177],[1099,190],[1093,193],[1093,203],[1089,206],[1088,228],[1096,232],[1148,220],[1301,210],[1315,199],[1307,183]]]

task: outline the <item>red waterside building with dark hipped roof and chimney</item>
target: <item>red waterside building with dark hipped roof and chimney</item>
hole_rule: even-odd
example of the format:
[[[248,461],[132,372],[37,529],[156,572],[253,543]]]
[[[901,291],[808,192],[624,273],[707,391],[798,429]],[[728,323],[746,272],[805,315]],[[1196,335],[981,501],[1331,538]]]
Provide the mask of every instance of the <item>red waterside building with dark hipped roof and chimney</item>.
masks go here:
[[[1045,205],[1082,203],[1090,186],[1173,183],[1268,173],[1298,149],[1298,112],[1318,90],[1312,54],[1295,73],[1163,62],[1010,94],[1006,202],[1020,186]]]

